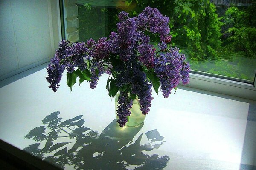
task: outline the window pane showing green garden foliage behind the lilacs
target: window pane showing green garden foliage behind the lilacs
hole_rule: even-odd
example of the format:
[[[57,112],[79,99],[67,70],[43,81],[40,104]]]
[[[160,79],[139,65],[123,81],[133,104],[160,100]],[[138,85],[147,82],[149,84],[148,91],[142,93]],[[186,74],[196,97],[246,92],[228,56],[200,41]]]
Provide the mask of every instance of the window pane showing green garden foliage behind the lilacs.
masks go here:
[[[255,0],[77,0],[76,5],[79,41],[108,37],[120,11],[133,17],[150,6],[170,18],[171,45],[186,54],[193,71],[254,81]],[[152,44],[160,41],[150,36]]]

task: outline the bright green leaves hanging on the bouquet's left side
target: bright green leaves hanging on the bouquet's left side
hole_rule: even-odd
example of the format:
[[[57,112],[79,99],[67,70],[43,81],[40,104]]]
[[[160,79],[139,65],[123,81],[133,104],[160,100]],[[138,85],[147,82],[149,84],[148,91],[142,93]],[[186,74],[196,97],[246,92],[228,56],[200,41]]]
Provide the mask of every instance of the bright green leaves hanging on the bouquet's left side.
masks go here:
[[[73,73],[67,72],[67,85],[70,87],[70,90],[72,91],[73,85],[76,83],[76,78],[79,77],[79,85],[84,82],[84,80],[90,81],[90,77],[92,77],[91,72],[88,69],[85,69],[84,71],[81,71],[79,68],[76,71],[73,71]]]

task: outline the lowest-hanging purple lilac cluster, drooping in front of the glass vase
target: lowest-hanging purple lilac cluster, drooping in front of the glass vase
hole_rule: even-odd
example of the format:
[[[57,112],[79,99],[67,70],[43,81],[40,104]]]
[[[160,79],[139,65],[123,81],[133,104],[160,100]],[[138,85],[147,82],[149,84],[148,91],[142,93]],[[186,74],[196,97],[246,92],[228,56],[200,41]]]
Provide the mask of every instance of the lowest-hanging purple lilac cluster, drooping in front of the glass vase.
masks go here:
[[[124,127],[124,125],[128,121],[127,116],[131,115],[130,108],[132,106],[132,100],[128,99],[127,93],[120,93],[117,103],[119,104],[119,106],[117,106],[118,109],[116,111],[117,116],[119,117],[117,122],[119,123],[120,127]]]

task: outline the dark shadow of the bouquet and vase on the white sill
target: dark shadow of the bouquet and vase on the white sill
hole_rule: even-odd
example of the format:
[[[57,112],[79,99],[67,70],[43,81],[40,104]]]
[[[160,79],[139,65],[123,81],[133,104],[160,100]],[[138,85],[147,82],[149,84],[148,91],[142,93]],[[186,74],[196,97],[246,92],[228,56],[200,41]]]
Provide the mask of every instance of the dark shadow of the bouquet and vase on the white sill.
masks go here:
[[[58,167],[77,170],[162,170],[169,162],[169,156],[146,154],[164,143],[157,130],[145,133],[147,140],[142,140],[143,133],[134,139],[144,124],[120,128],[115,119],[99,134],[84,126],[83,115],[61,122],[59,114],[51,113],[42,120],[43,126],[30,130],[25,138],[37,143],[23,150]]]

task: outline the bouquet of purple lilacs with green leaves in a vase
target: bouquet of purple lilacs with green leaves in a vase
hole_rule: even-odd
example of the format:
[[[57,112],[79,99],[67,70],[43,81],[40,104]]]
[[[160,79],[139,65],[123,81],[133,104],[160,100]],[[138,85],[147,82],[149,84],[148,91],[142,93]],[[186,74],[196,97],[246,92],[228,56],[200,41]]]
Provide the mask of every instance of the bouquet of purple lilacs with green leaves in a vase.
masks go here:
[[[156,8],[147,7],[132,18],[121,12],[118,18],[117,32],[111,32],[109,38],[102,37],[97,42],[90,39],[87,43],[62,40],[47,67],[46,79],[56,92],[66,69],[67,85],[72,91],[78,77],[80,84],[86,80],[90,88],[95,88],[99,77],[109,74],[106,89],[112,98],[120,92],[117,122],[123,127],[134,99],[138,98],[142,113],[148,114],[152,86],[157,94],[161,86],[167,98],[180,80],[189,83],[190,66],[178,48],[167,47],[172,38],[168,35],[169,18]],[[148,32],[159,35],[158,51],[150,44]]]

